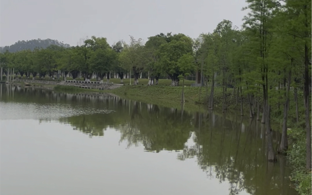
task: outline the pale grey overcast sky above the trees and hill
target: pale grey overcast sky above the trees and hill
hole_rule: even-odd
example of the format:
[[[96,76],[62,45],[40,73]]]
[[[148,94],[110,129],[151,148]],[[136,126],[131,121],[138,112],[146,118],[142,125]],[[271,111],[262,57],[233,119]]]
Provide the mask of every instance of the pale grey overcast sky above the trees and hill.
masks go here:
[[[167,32],[196,38],[223,19],[241,27],[246,5],[245,0],[1,0],[0,45],[38,38],[77,45],[92,35],[112,45],[129,42],[129,35],[146,41]]]

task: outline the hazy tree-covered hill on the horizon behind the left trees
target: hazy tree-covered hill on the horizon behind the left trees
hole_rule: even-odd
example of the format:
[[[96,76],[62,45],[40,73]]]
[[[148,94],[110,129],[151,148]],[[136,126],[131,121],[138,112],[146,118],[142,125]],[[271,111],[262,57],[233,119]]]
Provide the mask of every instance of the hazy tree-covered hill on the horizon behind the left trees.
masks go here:
[[[34,50],[36,47],[39,48],[47,48],[49,45],[58,45],[62,47],[70,47],[69,44],[64,44],[63,42],[59,42],[58,40],[52,40],[52,39],[33,39],[33,40],[27,40],[27,41],[18,41],[15,44],[11,46],[5,46],[0,47],[0,52],[5,52],[8,50],[9,52],[16,52],[20,50]]]

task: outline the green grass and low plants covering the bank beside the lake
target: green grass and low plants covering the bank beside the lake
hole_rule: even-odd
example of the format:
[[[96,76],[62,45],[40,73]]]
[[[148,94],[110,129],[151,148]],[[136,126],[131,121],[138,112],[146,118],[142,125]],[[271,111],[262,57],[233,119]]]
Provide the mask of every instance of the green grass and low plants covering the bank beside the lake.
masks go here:
[[[31,79],[31,78],[30,78]],[[62,79],[62,78],[61,78]],[[70,80],[68,78],[67,80]],[[110,79],[110,82],[119,83],[119,79]],[[113,93],[119,97],[136,100],[145,103],[157,104],[159,106],[171,107],[177,109],[184,109],[185,111],[205,111],[210,105],[210,87],[191,87],[190,85],[194,81],[185,81],[184,87],[177,86],[171,87],[171,80],[160,79],[159,85],[147,86],[148,79],[140,79],[139,85],[129,85],[130,79],[124,79],[124,86],[113,89],[113,90],[98,90],[98,89],[82,89],[73,86],[64,85],[43,85],[34,84],[34,87],[41,87],[63,92],[96,92],[96,93]],[[183,88],[183,89],[182,89]],[[184,92],[184,104],[182,102],[182,90]],[[292,97],[294,93],[291,92]],[[303,96],[303,92],[298,91],[298,96]],[[228,88],[223,94],[222,87],[214,87],[214,107],[215,111],[222,113],[224,98],[226,97],[226,112],[241,112],[243,108],[243,115],[249,115],[249,99],[247,94],[242,96],[237,94],[237,89]],[[292,100],[292,99],[291,99]],[[262,100],[259,100],[260,105]],[[241,102],[243,102],[241,104]],[[257,104],[257,103],[255,103]],[[183,108],[182,108],[183,105]],[[281,106],[281,110],[283,106]],[[256,109],[256,108],[254,108]],[[261,109],[261,107],[260,107]],[[255,110],[254,110],[255,111]],[[272,125],[273,130],[281,131],[283,125],[283,114],[280,114],[278,105],[272,107],[271,120],[275,125]],[[262,110],[259,112],[262,115]],[[288,151],[287,157],[291,164],[293,173],[291,180],[295,182],[295,186],[300,194],[311,193],[311,172],[305,169],[305,131],[304,131],[304,105],[299,103],[298,105],[299,121],[296,118],[296,104],[295,101],[290,101],[289,112],[288,112]],[[240,113],[239,113],[240,114]],[[261,120],[261,116],[259,119]],[[256,116],[255,116],[256,119]],[[273,127],[274,126],[274,127]]]

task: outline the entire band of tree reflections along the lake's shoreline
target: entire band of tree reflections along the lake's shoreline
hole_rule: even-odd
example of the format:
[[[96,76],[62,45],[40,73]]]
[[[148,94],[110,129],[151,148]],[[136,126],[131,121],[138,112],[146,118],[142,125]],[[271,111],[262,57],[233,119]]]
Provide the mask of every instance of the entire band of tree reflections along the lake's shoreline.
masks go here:
[[[183,150],[177,156],[179,160],[196,157],[208,178],[230,182],[230,194],[242,190],[261,195],[289,191],[286,162],[280,158],[278,164],[267,163],[265,129],[256,121],[211,112],[188,113],[105,95],[94,97],[18,87],[1,88],[1,94],[1,101],[14,99],[14,102],[63,103],[88,110],[114,110],[74,114],[59,121],[89,136],[103,136],[104,130],[113,127],[119,130],[120,141],[127,141],[129,147],[141,143],[145,150],[156,152]],[[273,142],[279,140],[279,134],[272,133]],[[191,134],[195,144],[186,146]]]

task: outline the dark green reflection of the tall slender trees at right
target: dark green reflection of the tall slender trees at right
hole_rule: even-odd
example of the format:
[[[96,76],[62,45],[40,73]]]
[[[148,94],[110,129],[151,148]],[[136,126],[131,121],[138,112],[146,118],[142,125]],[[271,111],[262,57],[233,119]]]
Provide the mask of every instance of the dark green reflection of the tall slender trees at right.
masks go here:
[[[212,113],[202,118],[202,128],[194,132],[195,145],[185,147],[183,153],[178,154],[179,160],[196,157],[208,178],[215,176],[219,182],[230,182],[230,194],[242,190],[250,194],[282,192],[287,178],[284,178],[284,172],[279,173],[276,164],[267,162],[258,128],[260,124],[251,121],[244,127],[242,120],[231,122]],[[226,128],[231,125],[232,128]],[[273,138],[277,137],[278,133],[274,132]]]

